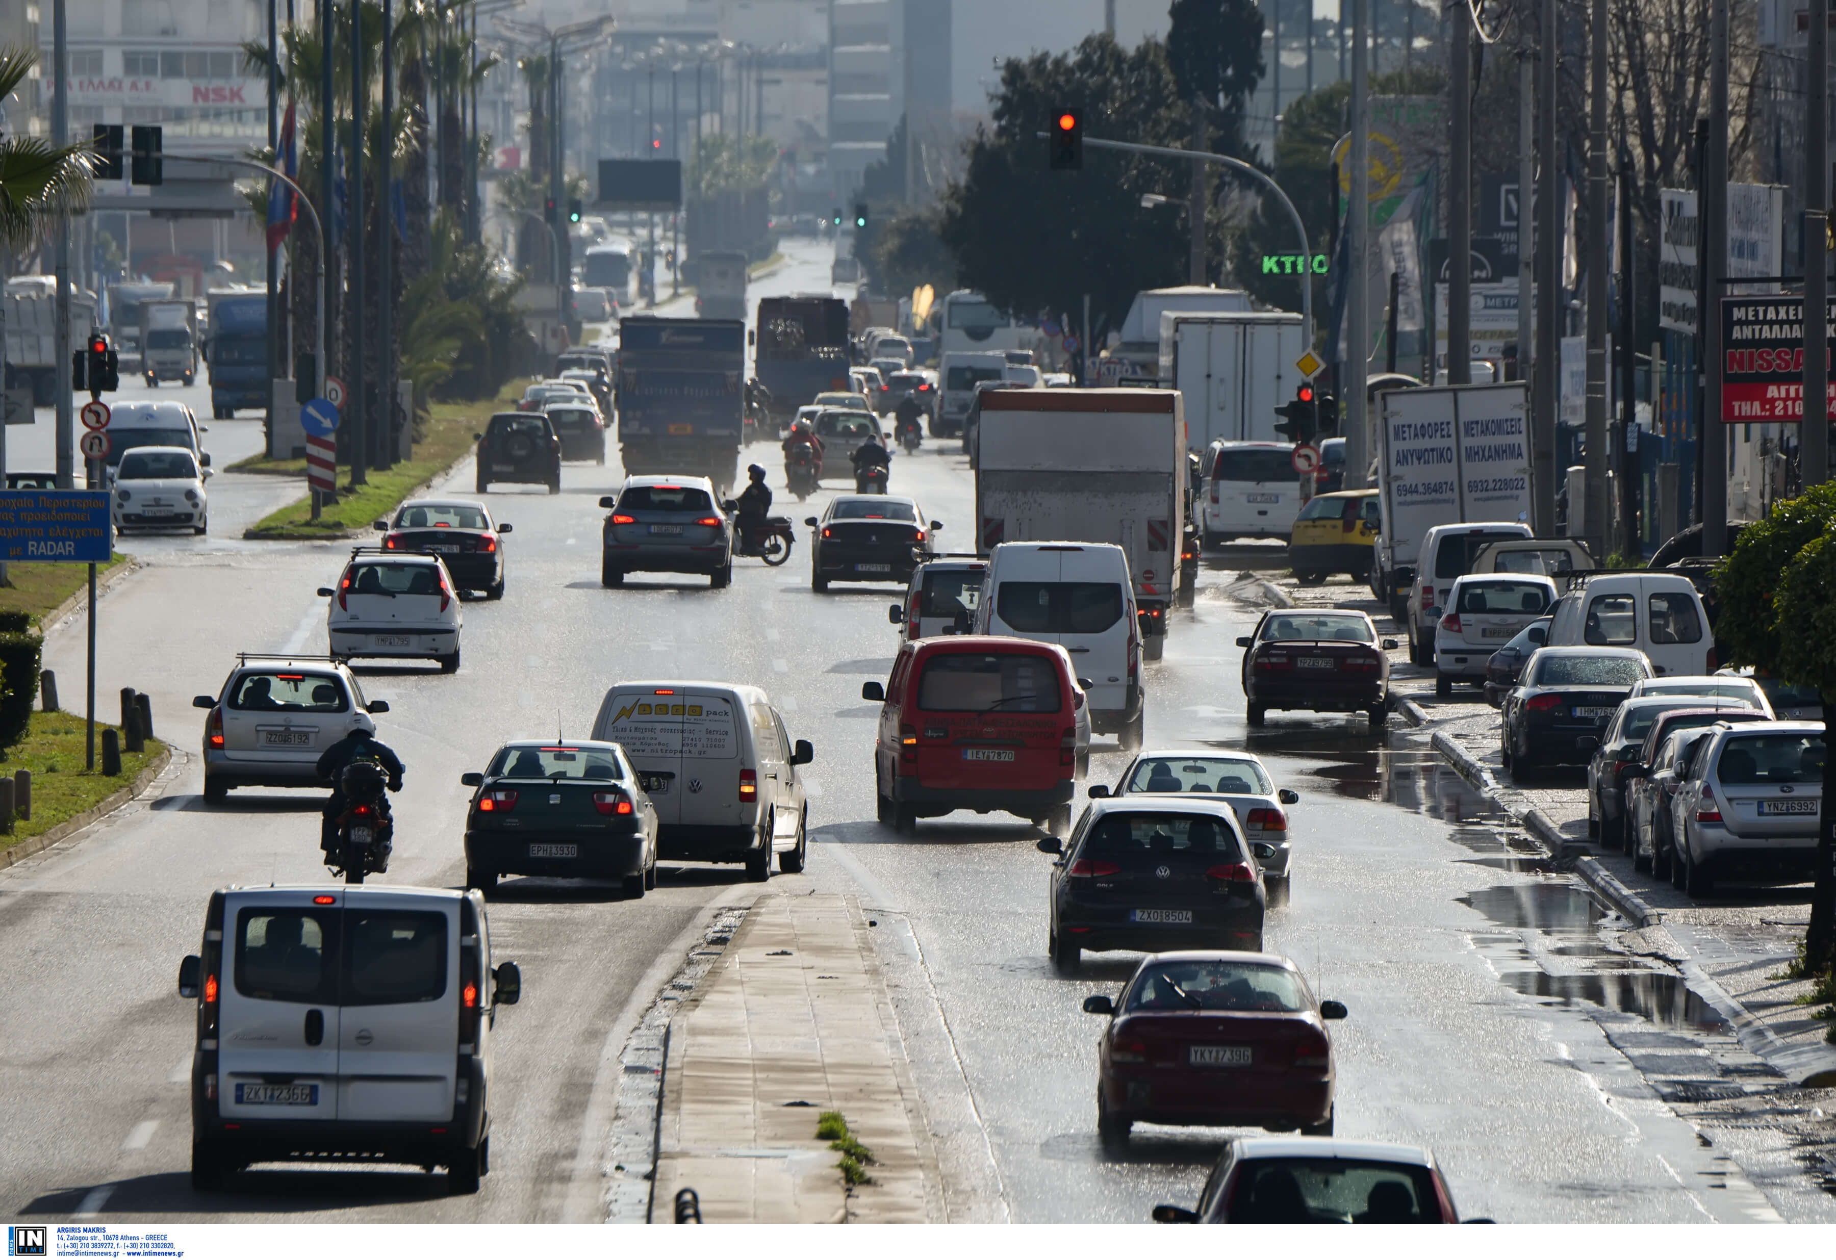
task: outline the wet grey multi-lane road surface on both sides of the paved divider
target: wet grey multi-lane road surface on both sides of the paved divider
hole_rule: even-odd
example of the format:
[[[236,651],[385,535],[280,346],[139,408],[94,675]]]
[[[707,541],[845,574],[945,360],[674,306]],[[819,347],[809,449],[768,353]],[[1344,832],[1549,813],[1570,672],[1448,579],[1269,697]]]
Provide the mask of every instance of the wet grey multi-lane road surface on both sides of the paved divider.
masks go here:
[[[826,290],[828,255],[793,242],[755,283]],[[206,411],[207,413],[207,411]],[[42,428],[42,422],[40,422]],[[250,437],[253,433],[255,437]],[[253,421],[213,422],[218,467],[259,441]],[[18,444],[15,444],[18,450]],[[751,457],[782,485],[775,448]],[[771,456],[771,457],[766,457]],[[15,467],[26,467],[15,459]],[[466,606],[465,669],[365,667],[393,711],[380,733],[408,762],[389,882],[457,885],[459,834],[479,770],[516,735],[580,733],[604,689],[628,678],[731,678],[767,687],[793,738],[810,738],[812,861],[773,889],[857,894],[876,911],[896,1008],[940,1130],[946,1181],[966,1214],[1140,1221],[1157,1201],[1190,1201],[1219,1131],[1136,1130],[1125,1157],[1094,1131],[1098,1021],[1087,994],[1113,992],[1133,962],[1087,959],[1074,977],[1045,955],[1050,860],[1019,819],[955,816],[898,838],[872,821],[874,707],[861,683],[894,652],[889,588],[808,580],[808,542],[789,566],[734,566],[705,580],[599,584],[606,468],[573,465],[562,494],[492,492],[512,522],[509,590]],[[248,483],[248,485],[244,485]],[[472,468],[446,489],[470,494]],[[813,514],[843,489],[828,483]],[[973,489],[953,444],[896,456],[892,490],[969,546]],[[241,523],[285,489],[213,481],[213,536],[132,540],[145,571],[101,602],[97,689],[152,696],[176,755],[136,804],[0,872],[0,1209],[13,1218],[99,1214],[162,1220],[545,1221],[604,1216],[606,1098],[630,1021],[679,962],[687,933],[718,902],[760,885],[738,867],[665,867],[655,893],[507,882],[492,944],[521,964],[521,1005],[498,1021],[492,1174],[446,1198],[419,1170],[242,1177],[235,1194],[189,1188],[185,1067],[193,1018],[178,959],[196,948],[204,902],[226,883],[325,878],[316,793],[237,792],[207,808],[191,696],[222,681],[235,652],[323,652],[323,601],[343,549],[250,544]],[[1432,1146],[1465,1214],[1500,1220],[1829,1220],[1836,1203],[1764,1133],[1717,1128],[1665,1089],[1676,1063],[1742,1080],[1724,1027],[1656,979],[1603,957],[1601,911],[1564,876],[1524,856],[1522,838],[1445,771],[1397,720],[1276,714],[1250,737],[1237,685],[1254,610],[1206,571],[1179,613],[1166,658],[1148,665],[1148,744],[1248,746],[1283,786],[1296,841],[1293,902],[1271,913],[1289,953],[1351,1018],[1338,1030],[1338,1133]],[[53,630],[46,663],[79,694],[81,626]],[[1092,782],[1122,766],[1098,744]],[[1605,1003],[1586,1001],[1599,973]],[[1592,986],[1590,986],[1592,981]],[[1662,1062],[1660,1062],[1662,1060]],[[1669,1073],[1669,1076],[1665,1076]]]

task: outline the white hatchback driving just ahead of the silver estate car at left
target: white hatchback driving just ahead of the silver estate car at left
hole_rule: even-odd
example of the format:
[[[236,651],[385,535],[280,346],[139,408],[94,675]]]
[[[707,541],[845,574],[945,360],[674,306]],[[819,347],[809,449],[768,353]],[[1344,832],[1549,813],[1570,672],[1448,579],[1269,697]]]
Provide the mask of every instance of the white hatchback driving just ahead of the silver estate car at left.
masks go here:
[[[459,669],[459,593],[446,562],[435,555],[356,547],[338,586],[321,586],[330,601],[325,634],[334,659],[419,658],[439,661],[442,674]]]

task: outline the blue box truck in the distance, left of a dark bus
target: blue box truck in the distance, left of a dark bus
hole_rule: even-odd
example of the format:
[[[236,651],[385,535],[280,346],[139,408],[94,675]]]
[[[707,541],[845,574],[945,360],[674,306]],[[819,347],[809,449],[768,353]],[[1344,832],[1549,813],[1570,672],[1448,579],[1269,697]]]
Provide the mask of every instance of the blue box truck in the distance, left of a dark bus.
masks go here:
[[[613,389],[624,470],[731,487],[740,470],[744,377],[744,321],[626,316]]]

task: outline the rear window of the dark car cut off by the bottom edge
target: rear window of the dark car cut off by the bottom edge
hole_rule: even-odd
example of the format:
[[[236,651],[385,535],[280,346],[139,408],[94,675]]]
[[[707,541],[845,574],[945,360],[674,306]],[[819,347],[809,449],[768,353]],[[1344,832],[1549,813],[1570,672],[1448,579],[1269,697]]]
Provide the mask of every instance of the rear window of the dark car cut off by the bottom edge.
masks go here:
[[[1250,1159],[1237,1168],[1234,1225],[1408,1225],[1441,1220],[1434,1174],[1368,1159]]]

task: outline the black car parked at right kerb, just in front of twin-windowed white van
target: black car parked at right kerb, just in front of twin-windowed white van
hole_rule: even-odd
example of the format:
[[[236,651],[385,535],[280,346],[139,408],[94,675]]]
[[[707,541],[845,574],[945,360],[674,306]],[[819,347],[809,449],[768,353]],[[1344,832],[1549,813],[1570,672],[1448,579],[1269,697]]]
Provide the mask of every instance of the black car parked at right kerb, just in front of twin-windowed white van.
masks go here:
[[[1632,683],[1651,676],[1638,648],[1537,648],[1504,698],[1504,764],[1518,777],[1586,764]]]

